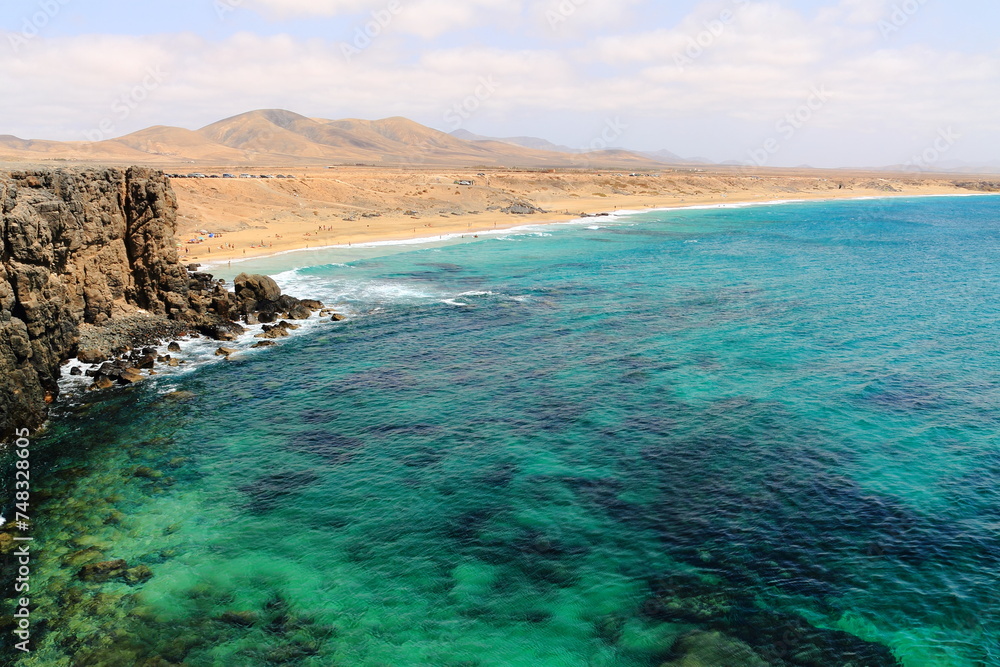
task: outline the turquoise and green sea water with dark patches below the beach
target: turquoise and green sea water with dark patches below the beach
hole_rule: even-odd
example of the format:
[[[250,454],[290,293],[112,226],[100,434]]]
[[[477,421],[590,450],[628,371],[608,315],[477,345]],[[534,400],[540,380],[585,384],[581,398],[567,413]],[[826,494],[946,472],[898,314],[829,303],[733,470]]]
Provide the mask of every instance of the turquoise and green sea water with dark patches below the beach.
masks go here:
[[[268,260],[352,318],[61,408],[17,664],[1000,665],[998,262],[989,197]]]

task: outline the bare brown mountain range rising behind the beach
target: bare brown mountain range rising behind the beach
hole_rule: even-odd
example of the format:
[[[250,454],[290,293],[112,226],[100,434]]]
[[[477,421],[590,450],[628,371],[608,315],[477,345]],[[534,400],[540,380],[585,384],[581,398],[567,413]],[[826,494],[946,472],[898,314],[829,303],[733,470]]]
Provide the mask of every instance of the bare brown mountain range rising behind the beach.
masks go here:
[[[199,130],[158,125],[99,142],[23,140],[0,135],[0,161],[204,166],[325,164],[608,167],[657,161],[628,151],[565,153],[501,141],[469,141],[406,118],[327,120],[283,109],[226,118]]]

